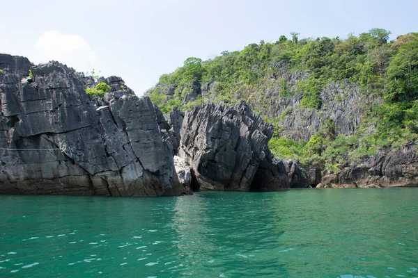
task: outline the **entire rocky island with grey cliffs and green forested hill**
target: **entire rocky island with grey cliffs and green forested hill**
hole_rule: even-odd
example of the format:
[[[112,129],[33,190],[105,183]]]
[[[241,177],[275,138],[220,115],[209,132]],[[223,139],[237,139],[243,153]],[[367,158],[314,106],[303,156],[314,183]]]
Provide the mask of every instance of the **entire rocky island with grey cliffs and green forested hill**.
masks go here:
[[[0,54],[0,193],[418,186],[418,35],[249,44],[137,97],[117,76]]]

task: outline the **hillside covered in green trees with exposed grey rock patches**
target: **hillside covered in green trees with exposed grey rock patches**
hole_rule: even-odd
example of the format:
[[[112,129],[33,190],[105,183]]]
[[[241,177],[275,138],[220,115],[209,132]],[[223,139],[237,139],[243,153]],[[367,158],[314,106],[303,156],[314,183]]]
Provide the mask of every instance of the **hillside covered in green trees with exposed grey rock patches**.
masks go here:
[[[373,28],[341,38],[291,33],[277,42],[187,58],[146,92],[164,113],[247,101],[274,126],[277,158],[332,172],[418,136],[418,33]]]

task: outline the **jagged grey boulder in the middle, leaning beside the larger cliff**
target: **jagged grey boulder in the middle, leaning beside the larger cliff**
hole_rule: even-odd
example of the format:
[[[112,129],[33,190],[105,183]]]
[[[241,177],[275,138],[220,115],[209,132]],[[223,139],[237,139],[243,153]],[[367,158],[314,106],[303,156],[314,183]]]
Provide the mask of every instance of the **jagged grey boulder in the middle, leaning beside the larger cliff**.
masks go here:
[[[193,189],[248,191],[289,187],[284,167],[272,163],[268,150],[272,126],[253,113],[245,101],[233,107],[195,107],[185,115],[180,136],[179,156],[192,168]]]

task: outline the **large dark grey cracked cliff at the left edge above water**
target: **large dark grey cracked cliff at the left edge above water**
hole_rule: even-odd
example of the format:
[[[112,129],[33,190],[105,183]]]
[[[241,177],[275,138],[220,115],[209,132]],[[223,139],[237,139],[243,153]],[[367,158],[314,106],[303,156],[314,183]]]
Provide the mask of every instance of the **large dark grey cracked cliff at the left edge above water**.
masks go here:
[[[22,65],[0,73],[1,194],[183,193],[148,97],[111,76],[100,80],[111,92],[91,99],[92,79],[57,62],[31,67],[33,82],[21,83]]]

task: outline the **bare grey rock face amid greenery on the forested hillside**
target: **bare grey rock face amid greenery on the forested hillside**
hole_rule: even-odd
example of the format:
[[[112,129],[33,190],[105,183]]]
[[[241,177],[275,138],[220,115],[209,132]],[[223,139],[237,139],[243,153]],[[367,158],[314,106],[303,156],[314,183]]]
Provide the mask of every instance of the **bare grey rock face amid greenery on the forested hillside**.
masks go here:
[[[281,62],[273,62],[270,67],[279,73],[256,88],[241,89],[235,97],[248,99],[251,108],[276,118],[279,136],[309,140],[327,125],[336,135],[352,135],[362,123],[365,109],[382,101],[376,95],[362,94],[359,85],[345,81],[325,85],[319,94],[320,107],[301,108],[304,92],[298,84],[309,78],[309,73],[288,72]]]

